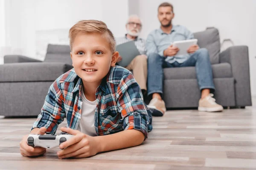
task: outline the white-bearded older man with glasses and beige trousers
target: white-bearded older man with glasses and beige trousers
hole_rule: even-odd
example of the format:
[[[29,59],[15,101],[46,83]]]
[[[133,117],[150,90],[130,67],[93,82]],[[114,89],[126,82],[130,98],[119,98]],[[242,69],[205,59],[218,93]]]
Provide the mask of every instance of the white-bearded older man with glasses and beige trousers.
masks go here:
[[[145,40],[139,38],[139,34],[142,28],[140,18],[137,15],[131,15],[128,18],[128,21],[125,25],[127,34],[124,37],[116,38],[116,45],[134,41],[137,49],[139,50],[141,55],[134,56],[134,59],[131,61],[127,68],[130,71],[133,71],[134,78],[140,85],[140,88],[143,94],[147,91],[147,56],[145,51]],[[119,56],[117,62],[122,60],[122,56]]]

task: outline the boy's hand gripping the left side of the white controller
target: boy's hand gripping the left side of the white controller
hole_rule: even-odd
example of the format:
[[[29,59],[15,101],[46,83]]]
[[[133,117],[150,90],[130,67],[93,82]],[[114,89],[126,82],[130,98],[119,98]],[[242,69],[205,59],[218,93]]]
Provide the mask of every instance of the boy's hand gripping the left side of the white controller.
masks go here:
[[[44,135],[46,132],[45,127],[41,127],[36,134]],[[32,147],[27,144],[27,139],[29,135],[23,136],[22,140],[20,141],[20,154],[22,156],[40,156],[46,152],[44,147]]]

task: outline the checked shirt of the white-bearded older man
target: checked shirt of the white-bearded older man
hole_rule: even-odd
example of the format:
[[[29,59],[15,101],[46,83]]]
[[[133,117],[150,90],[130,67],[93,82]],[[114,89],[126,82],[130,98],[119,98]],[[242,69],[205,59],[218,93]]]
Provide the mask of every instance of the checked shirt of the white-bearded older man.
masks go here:
[[[146,55],[146,48],[145,48],[145,40],[143,40],[142,38],[137,37],[135,40],[131,40],[129,38],[127,38],[126,36],[127,34],[125,34],[125,37],[119,37],[116,38],[116,45],[128,42],[128,41],[134,41],[137,49],[139,50],[140,54],[145,54]]]

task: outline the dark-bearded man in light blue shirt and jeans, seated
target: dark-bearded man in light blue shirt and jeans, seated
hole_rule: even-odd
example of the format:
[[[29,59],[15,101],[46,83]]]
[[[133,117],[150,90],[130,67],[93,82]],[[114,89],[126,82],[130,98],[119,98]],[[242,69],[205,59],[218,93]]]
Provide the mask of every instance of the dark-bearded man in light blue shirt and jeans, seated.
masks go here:
[[[163,96],[163,68],[195,67],[201,99],[198,102],[198,111],[223,111],[210,92],[215,91],[212,78],[212,66],[206,48],[192,45],[187,54],[176,55],[179,49],[173,46],[174,41],[194,39],[194,35],[186,27],[173,25],[175,17],[173,6],[170,3],[161,3],[158,6],[158,20],[160,28],[152,31],[146,40],[148,54],[148,96],[152,100],[148,108],[158,109],[163,116],[166,111]],[[175,90],[175,89],[172,89]],[[184,96],[185,97],[185,96]]]

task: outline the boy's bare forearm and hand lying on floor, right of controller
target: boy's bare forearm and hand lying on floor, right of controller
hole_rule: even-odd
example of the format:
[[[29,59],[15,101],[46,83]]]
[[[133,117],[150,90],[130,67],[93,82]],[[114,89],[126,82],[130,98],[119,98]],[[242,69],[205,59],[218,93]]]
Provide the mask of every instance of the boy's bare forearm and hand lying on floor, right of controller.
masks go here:
[[[61,127],[61,130],[74,137],[60,145],[61,150],[57,152],[60,159],[86,158],[100,152],[133,147],[141,144],[145,138],[144,134],[138,130],[124,130],[111,135],[94,137],[67,127]]]

